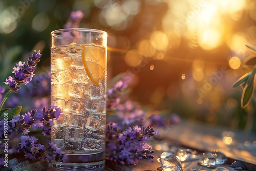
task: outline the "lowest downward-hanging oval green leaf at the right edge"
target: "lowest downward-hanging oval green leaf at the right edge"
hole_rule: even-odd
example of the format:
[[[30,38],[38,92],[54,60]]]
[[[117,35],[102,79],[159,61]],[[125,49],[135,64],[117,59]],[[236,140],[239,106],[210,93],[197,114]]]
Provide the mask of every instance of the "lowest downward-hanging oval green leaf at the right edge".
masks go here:
[[[241,98],[241,107],[245,108],[251,101],[251,98],[253,96],[254,93],[254,89],[255,89],[255,83],[252,82],[251,84],[246,84],[244,90],[243,90],[243,94],[242,94],[242,98]]]

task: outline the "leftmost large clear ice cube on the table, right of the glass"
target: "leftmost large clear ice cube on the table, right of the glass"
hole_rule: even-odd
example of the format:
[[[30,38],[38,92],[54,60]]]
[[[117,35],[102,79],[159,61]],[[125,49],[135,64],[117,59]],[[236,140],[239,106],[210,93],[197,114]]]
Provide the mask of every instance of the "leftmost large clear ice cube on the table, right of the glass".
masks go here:
[[[180,160],[174,154],[160,159],[160,163],[163,169],[166,168],[166,170],[182,171]]]

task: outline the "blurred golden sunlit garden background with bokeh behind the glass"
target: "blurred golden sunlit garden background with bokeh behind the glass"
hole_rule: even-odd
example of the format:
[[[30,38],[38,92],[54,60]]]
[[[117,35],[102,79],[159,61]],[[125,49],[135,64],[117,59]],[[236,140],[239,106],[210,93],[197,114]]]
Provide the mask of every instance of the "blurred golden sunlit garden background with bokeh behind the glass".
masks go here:
[[[256,132],[255,107],[242,109],[242,89],[231,88],[252,69],[244,59],[254,55],[245,45],[256,47],[253,0],[0,0],[0,82],[42,53],[33,83],[8,105],[50,105],[50,32],[77,10],[81,28],[108,32],[108,80],[127,73],[143,108]]]

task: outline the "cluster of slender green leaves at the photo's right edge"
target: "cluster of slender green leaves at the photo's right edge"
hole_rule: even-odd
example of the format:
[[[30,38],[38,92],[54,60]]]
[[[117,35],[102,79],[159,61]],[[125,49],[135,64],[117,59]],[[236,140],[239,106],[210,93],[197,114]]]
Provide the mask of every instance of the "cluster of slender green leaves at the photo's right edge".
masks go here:
[[[256,52],[256,48],[246,45],[250,50]],[[254,90],[255,90],[255,74],[256,74],[256,57],[247,57],[246,58],[246,65],[253,65],[254,68],[250,73],[246,73],[242,77],[240,77],[236,82],[233,84],[233,88],[238,86],[242,86],[243,93],[241,97],[241,107],[245,108],[251,101]]]

